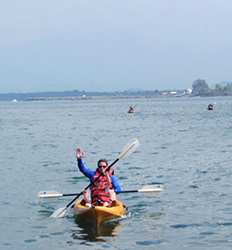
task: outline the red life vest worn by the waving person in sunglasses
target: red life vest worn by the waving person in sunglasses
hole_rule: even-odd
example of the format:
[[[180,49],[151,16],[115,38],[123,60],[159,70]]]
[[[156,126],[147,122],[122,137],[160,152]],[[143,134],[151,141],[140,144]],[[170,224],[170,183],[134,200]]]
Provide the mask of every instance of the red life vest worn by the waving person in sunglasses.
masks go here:
[[[100,172],[96,170],[96,173],[92,179],[92,183],[93,183],[91,186],[92,204],[103,205],[104,202],[108,202],[110,205],[112,201],[110,199],[109,190],[112,189],[113,186],[111,181],[109,183],[107,176],[101,175]]]

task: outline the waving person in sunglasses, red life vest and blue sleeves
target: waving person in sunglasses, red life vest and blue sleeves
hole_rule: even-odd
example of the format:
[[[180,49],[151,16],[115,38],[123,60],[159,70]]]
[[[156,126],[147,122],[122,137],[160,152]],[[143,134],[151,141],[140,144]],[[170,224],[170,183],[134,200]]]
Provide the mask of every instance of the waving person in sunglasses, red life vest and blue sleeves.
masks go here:
[[[116,200],[116,193],[121,191],[121,187],[114,172],[111,169],[106,171],[108,163],[105,159],[100,159],[98,161],[96,170],[90,170],[82,160],[83,155],[83,151],[80,148],[77,148],[76,158],[78,168],[92,183],[90,188],[91,204],[111,206],[113,201]],[[84,194],[84,199],[88,202],[86,193]]]

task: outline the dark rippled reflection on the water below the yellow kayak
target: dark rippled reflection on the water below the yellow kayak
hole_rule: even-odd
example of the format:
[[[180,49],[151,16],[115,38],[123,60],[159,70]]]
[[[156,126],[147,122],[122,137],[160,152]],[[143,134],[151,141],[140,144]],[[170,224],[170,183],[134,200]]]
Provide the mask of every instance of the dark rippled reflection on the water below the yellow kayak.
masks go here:
[[[79,226],[79,230],[74,230],[72,233],[73,239],[81,239],[85,241],[106,241],[104,237],[114,237],[119,234],[121,229],[120,221],[110,221],[96,226],[86,223],[78,216],[75,217],[75,222]]]

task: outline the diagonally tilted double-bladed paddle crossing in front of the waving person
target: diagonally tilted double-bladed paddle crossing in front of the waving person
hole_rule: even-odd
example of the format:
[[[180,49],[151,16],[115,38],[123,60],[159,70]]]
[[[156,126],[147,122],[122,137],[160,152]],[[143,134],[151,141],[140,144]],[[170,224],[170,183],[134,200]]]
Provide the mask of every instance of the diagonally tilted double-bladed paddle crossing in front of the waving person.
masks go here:
[[[106,171],[108,171],[113,165],[115,165],[115,163],[117,163],[119,160],[125,158],[126,156],[128,156],[129,154],[133,153],[136,148],[139,146],[139,141],[138,139],[133,139],[131,142],[129,142],[126,146],[124,146],[124,148],[122,149],[122,152],[119,154],[118,158],[111,163],[107,168]],[[100,178],[100,176],[98,178],[95,179],[95,181],[97,181]],[[80,193],[76,194],[76,197],[71,200],[65,207],[62,208],[58,208],[55,212],[53,212],[53,214],[51,215],[51,217],[53,218],[62,218],[64,217],[67,209],[72,206],[72,204],[89,188],[91,187],[92,183],[90,183],[88,186],[86,186]]]

